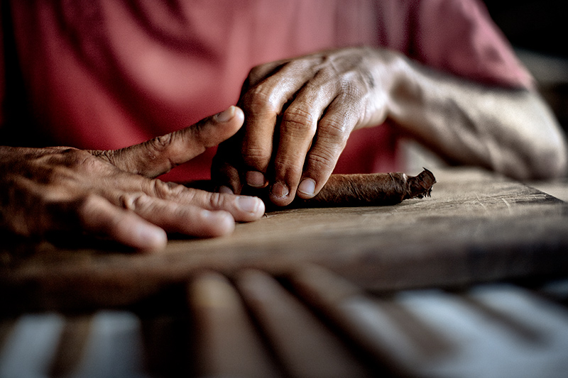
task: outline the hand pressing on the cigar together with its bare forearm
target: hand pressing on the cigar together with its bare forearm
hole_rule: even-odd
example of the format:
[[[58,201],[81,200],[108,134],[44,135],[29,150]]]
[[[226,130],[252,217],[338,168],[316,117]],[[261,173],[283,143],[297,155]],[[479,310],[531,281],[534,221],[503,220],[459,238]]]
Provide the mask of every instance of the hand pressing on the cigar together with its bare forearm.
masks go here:
[[[398,52],[344,48],[254,67],[241,91],[244,127],[219,145],[223,193],[268,187],[285,206],[324,186],[352,130],[388,120],[452,164],[515,179],[567,172],[567,145],[536,91],[437,72]]]

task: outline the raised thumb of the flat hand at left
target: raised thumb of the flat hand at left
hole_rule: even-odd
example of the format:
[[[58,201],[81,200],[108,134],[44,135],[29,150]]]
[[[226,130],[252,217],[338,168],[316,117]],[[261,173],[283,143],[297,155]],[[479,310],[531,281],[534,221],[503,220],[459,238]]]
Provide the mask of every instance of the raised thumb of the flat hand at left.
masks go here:
[[[243,111],[231,106],[195,125],[121,150],[92,151],[126,172],[157,177],[192,160],[207,148],[234,135],[244,122]]]

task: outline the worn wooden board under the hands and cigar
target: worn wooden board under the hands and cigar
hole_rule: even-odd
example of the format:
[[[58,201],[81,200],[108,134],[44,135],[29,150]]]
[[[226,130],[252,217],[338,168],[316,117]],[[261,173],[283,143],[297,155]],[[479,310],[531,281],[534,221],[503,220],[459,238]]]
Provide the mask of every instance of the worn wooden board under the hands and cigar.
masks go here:
[[[415,172],[409,172],[413,174]],[[6,308],[132,304],[196,272],[229,277],[327,267],[371,291],[447,287],[568,272],[568,205],[477,169],[434,172],[432,197],[383,207],[296,209],[240,224],[233,235],[173,240],[136,254],[116,245],[5,240]]]

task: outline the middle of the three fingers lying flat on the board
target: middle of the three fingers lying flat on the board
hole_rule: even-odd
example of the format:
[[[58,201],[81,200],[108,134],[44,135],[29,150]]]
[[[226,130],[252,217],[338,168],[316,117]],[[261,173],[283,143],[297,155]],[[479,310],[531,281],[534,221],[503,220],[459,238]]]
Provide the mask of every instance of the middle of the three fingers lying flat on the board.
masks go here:
[[[143,193],[126,195],[122,206],[168,232],[211,238],[233,232],[234,218],[227,211],[209,211]]]

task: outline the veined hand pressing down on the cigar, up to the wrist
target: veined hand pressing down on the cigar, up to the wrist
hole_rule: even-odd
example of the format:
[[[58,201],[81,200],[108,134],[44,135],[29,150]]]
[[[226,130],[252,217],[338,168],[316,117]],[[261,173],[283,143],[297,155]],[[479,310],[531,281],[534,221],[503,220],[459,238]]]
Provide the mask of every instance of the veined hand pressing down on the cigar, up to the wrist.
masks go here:
[[[320,191],[351,130],[386,118],[393,54],[370,48],[320,52],[254,67],[239,99],[245,126],[219,146],[222,191],[270,185],[283,206]]]

